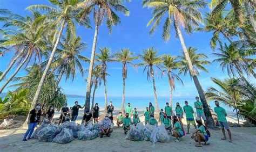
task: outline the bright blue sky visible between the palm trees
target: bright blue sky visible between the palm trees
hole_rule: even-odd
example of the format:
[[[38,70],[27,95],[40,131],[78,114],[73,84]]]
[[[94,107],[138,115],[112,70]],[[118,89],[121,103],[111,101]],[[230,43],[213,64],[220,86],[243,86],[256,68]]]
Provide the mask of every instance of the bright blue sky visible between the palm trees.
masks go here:
[[[99,27],[97,49],[99,47],[109,47],[111,48],[112,53],[117,52],[120,48],[130,48],[132,52],[136,55],[142,53],[142,49],[154,46],[158,49],[158,55],[161,54],[170,54],[170,55],[180,55],[181,45],[179,39],[175,38],[174,31],[171,30],[171,40],[169,42],[164,42],[161,40],[161,27],[160,25],[156,32],[153,35],[149,35],[150,27],[146,27],[147,22],[151,19],[151,11],[147,8],[142,8],[142,1],[133,0],[131,3],[126,3],[125,5],[130,10],[130,16],[126,17],[120,15],[119,17],[122,20],[122,24],[113,27],[112,34],[109,34],[105,24]],[[49,4],[46,0],[8,0],[0,1],[0,8],[9,9],[14,13],[25,16],[30,15],[28,10],[25,8],[33,4]],[[208,9],[202,10],[202,12],[208,11]],[[93,24],[92,24],[93,27]],[[82,41],[86,42],[88,45],[87,49],[82,52],[82,55],[90,58],[92,41],[94,35],[94,28],[92,30],[86,29],[84,27],[77,27],[77,35],[82,37]],[[212,49],[209,46],[211,33],[201,33],[196,32],[191,35],[186,35],[183,33],[185,44],[187,47],[197,47],[198,53],[205,53],[210,61],[214,59],[214,56],[211,55]],[[0,71],[4,71],[12,53],[6,54],[4,57],[0,58]],[[139,63],[136,61],[135,63]],[[83,63],[84,69],[89,67],[88,63]],[[219,67],[219,63],[213,63],[209,66],[206,66],[207,70],[210,73],[200,72],[199,81],[203,86],[203,89],[206,89],[209,86],[215,86],[211,81],[211,77],[225,78],[228,77],[227,73],[223,73]],[[107,69],[107,73],[111,76],[107,77],[107,94],[109,97],[122,97],[123,92],[123,83],[122,83],[122,65],[120,63],[110,63]],[[14,72],[14,69],[10,70],[7,77],[9,77]],[[24,70],[19,71],[17,76],[23,76]],[[82,77],[77,73],[76,78],[73,82],[70,80],[66,81],[63,79],[60,82],[63,91],[67,94],[75,95],[85,95],[86,92],[86,82],[84,79],[87,77],[85,74]],[[173,92],[174,97],[194,97],[197,96],[197,90],[194,86],[193,81],[190,77],[180,76],[183,79],[184,86],[176,83],[176,90]],[[3,81],[0,82],[0,85],[3,85]],[[12,84],[12,83],[10,83]],[[169,96],[169,83],[167,77],[156,78],[156,88],[157,95],[161,97]],[[3,92],[7,90],[12,90],[13,88],[6,88]],[[96,91],[97,97],[104,96],[104,87],[101,86]],[[136,97],[136,96],[153,96],[153,86],[152,81],[147,81],[146,74],[143,74],[142,67],[138,67],[138,71],[134,70],[132,67],[128,69],[128,75],[126,79],[126,96],[127,97]]]

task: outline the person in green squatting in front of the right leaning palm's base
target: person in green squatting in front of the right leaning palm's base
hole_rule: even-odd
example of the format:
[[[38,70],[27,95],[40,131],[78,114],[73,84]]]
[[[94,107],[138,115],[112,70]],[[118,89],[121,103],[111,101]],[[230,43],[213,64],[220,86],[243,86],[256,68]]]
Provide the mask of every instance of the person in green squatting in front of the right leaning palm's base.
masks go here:
[[[192,134],[191,138],[198,142],[198,144],[196,144],[196,147],[202,147],[201,146],[201,141],[205,142],[205,145],[207,145],[207,141],[209,140],[207,133],[205,131],[205,126],[203,125],[203,122],[201,121],[201,119],[199,117],[196,118],[197,121],[197,129],[196,131]]]

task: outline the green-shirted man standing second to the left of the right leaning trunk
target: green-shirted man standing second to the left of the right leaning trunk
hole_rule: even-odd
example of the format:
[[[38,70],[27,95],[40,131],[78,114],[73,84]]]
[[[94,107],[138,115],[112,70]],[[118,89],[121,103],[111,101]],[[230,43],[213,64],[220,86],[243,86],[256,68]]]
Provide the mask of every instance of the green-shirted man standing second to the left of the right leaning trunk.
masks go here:
[[[194,122],[194,110],[192,106],[188,105],[188,102],[185,101],[185,106],[183,107],[183,111],[186,113],[187,119],[187,134],[190,134],[190,124],[194,125],[194,128],[197,128],[196,122]]]

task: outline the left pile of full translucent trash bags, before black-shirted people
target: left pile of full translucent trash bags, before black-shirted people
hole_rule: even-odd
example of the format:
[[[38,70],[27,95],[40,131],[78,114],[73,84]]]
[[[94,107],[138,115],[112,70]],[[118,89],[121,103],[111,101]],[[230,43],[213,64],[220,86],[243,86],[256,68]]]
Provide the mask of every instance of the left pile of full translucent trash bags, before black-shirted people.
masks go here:
[[[99,136],[100,124],[92,122],[76,125],[75,121],[64,122],[57,126],[53,123],[43,122],[32,134],[31,137],[44,142],[68,143],[75,139],[92,140]]]

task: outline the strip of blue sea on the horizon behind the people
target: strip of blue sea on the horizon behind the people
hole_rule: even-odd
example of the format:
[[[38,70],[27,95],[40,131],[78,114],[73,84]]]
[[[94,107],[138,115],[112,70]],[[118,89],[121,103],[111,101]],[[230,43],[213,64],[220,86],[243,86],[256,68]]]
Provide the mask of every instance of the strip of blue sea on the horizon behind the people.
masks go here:
[[[68,98],[68,106],[71,107],[73,105],[75,105],[75,101],[78,101],[79,105],[84,105],[85,103],[85,98]],[[172,108],[174,109],[176,107],[176,103],[179,103],[181,107],[183,107],[185,105],[184,101],[187,100],[188,101],[188,105],[191,105],[194,108],[194,102],[195,99],[194,98],[175,98],[173,97],[172,99]],[[114,107],[121,107],[122,105],[122,98],[108,98],[107,99],[108,104],[110,101],[112,101],[113,106]],[[125,107],[127,105],[127,103],[131,104],[131,107],[134,108],[145,108],[147,106],[149,106],[149,102],[151,102],[153,104],[153,106],[155,105],[154,103],[154,98],[147,98],[147,97],[127,97],[125,98]],[[164,108],[166,105],[165,103],[169,102],[169,98],[168,97],[159,97],[158,98],[158,106],[159,108]],[[212,109],[215,107],[215,104],[212,100],[208,101],[210,103],[210,106],[212,107]],[[95,103],[98,103],[99,107],[104,107],[105,105],[105,99],[104,98],[95,98]],[[225,106],[224,104],[220,103],[220,106],[224,107],[226,109],[227,112],[232,112],[232,108]],[[194,108],[194,111],[196,111],[196,109]]]

